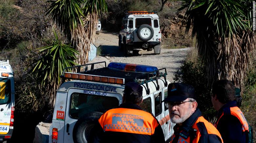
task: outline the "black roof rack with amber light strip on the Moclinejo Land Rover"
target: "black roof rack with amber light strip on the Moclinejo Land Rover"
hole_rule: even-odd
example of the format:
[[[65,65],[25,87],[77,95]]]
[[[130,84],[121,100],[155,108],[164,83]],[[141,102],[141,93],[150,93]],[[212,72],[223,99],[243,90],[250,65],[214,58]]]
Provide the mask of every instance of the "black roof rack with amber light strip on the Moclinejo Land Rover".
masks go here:
[[[95,64],[105,63],[105,67],[94,69]],[[80,71],[81,67],[91,65],[91,70]],[[74,69],[78,68],[76,73],[73,72],[65,72],[67,69]],[[164,72],[161,72],[164,70]],[[166,87],[166,68],[162,68],[155,71],[149,72],[135,72],[135,71],[123,71],[114,69],[112,67],[107,67],[106,62],[96,62],[91,64],[67,67],[63,70],[62,75],[60,76],[63,79],[78,79],[78,80],[85,80],[85,81],[94,81],[94,82],[102,82],[102,83],[112,83],[112,84],[120,84],[124,85],[128,82],[136,82],[140,85],[146,84],[146,92],[147,94],[150,93],[148,88],[148,82],[156,80],[156,88],[159,90],[158,80],[161,77],[164,77],[164,86]]]

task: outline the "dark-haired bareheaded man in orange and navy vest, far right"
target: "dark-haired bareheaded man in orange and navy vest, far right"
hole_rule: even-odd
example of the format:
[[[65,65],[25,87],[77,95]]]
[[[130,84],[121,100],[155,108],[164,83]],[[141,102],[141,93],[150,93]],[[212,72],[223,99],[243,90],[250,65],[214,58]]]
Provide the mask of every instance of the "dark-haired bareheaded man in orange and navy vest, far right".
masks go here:
[[[248,142],[249,126],[242,111],[237,107],[235,86],[231,81],[219,80],[212,87],[212,104],[218,111],[215,127],[224,142]]]

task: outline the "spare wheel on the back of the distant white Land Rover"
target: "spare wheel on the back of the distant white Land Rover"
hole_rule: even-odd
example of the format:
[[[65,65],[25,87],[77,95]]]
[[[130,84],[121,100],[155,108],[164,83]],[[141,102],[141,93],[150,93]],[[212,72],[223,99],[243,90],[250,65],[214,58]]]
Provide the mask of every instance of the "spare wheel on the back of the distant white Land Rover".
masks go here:
[[[142,24],[138,28],[137,36],[142,41],[148,41],[154,36],[154,30],[150,25]]]

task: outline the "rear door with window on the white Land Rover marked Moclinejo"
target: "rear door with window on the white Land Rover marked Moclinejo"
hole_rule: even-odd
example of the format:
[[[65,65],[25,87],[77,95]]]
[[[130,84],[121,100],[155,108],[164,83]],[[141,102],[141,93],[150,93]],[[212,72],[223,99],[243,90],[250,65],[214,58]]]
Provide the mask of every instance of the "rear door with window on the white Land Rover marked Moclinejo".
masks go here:
[[[88,89],[71,88],[68,91],[64,126],[64,141],[74,142],[73,132],[76,121],[87,113],[101,112],[117,107],[122,101],[121,94]]]

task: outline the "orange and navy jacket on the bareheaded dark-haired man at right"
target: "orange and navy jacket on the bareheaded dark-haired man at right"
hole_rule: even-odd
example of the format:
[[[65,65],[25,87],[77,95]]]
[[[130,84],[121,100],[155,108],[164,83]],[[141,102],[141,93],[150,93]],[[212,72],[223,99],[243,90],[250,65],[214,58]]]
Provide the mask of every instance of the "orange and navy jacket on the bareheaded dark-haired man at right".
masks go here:
[[[224,142],[246,143],[249,127],[236,101],[230,101],[218,111],[214,124],[223,137]]]

